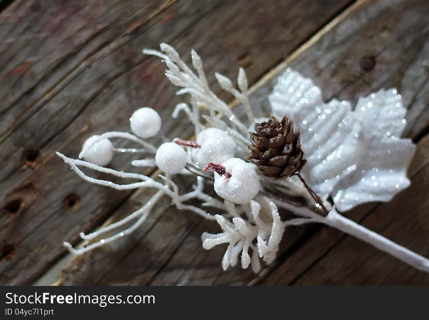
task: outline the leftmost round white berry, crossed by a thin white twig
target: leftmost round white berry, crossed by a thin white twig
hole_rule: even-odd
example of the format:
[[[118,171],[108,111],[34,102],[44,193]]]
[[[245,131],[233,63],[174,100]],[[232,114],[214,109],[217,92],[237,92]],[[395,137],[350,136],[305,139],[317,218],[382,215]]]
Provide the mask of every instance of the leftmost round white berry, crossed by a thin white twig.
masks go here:
[[[90,147],[84,155],[84,159],[98,166],[106,166],[112,161],[115,154],[113,144],[109,139],[103,139],[94,144],[94,141],[98,138],[98,135],[90,136],[83,143],[82,150]]]

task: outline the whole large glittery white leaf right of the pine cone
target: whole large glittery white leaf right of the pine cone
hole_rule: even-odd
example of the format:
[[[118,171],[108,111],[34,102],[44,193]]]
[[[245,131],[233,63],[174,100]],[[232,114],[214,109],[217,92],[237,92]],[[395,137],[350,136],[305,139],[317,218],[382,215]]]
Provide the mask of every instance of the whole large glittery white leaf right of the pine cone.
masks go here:
[[[321,101],[312,81],[288,70],[270,95],[273,115],[287,114],[301,131],[307,158],[302,174],[340,211],[370,201],[389,201],[409,186],[406,170],[414,151],[401,139],[406,110],[396,89],[347,101]]]

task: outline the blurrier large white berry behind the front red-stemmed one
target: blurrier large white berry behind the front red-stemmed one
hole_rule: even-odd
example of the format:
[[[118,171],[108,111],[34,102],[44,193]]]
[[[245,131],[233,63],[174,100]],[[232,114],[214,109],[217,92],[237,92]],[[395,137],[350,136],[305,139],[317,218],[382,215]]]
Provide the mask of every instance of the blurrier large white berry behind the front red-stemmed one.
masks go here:
[[[204,129],[198,133],[196,142],[201,148],[194,149],[192,157],[199,166],[205,166],[209,162],[222,163],[235,155],[234,140],[220,129]]]

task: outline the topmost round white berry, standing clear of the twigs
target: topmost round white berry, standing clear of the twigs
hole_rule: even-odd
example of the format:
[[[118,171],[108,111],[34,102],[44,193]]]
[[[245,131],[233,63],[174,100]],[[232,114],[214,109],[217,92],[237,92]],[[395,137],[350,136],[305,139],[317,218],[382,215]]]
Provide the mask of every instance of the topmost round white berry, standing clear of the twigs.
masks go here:
[[[137,109],[130,118],[131,131],[141,138],[150,138],[161,129],[161,117],[152,108]]]

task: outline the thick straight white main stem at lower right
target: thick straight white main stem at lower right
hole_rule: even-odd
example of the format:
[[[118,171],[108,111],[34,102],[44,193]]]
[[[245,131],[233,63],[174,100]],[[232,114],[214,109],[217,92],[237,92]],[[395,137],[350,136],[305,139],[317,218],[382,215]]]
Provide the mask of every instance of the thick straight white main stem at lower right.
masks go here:
[[[427,258],[351,221],[339,214],[334,208],[331,209],[328,216],[321,222],[365,241],[418,270],[429,272],[429,260]]]

